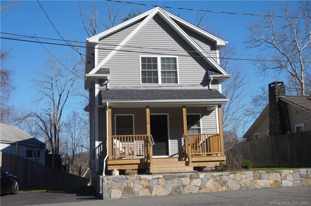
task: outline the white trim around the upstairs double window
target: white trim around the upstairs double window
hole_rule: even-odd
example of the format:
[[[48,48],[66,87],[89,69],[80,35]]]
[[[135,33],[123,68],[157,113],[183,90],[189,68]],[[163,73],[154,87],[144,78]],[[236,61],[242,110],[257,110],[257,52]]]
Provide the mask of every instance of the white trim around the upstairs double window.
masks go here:
[[[151,84],[151,83],[142,83],[142,57],[157,57],[157,65],[158,65],[158,83]],[[165,84],[162,83],[161,79],[161,57],[172,57],[176,58],[176,67],[177,67],[177,84]],[[178,56],[171,56],[171,55],[139,55],[139,75],[140,75],[140,84],[142,85],[179,85],[179,66],[178,66]]]

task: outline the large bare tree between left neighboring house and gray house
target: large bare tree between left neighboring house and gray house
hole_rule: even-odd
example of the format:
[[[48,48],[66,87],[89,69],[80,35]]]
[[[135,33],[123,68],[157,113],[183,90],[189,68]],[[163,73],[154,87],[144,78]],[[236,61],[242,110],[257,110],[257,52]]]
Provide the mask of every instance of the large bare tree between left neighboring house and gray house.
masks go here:
[[[75,95],[75,91],[79,89],[77,81],[80,73],[83,72],[81,62],[73,57],[71,59],[66,67],[63,60],[61,60],[62,64],[52,57],[46,60],[44,71],[36,72],[40,78],[32,80],[37,92],[34,104],[39,105],[38,112],[30,112],[19,121],[22,122],[27,118],[37,119],[35,124],[47,137],[52,154],[59,154],[63,110],[68,98]]]

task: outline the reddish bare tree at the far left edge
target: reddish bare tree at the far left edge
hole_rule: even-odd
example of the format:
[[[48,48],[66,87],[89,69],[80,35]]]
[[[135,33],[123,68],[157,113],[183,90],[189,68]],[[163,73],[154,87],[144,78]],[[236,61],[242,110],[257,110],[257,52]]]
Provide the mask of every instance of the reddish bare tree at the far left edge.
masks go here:
[[[1,122],[11,123],[12,114],[14,114],[14,107],[10,104],[11,94],[16,87],[12,84],[13,75],[15,72],[7,68],[7,61],[12,58],[11,50],[5,50],[3,47],[0,51],[0,91],[1,91]]]

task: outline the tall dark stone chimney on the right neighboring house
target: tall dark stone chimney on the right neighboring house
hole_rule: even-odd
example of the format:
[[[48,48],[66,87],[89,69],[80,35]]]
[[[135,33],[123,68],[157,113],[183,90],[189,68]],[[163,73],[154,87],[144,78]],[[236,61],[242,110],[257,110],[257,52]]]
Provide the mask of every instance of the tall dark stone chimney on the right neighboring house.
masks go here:
[[[286,102],[279,101],[280,96],[285,96],[284,82],[269,84],[269,133],[272,135],[290,132],[290,121]]]

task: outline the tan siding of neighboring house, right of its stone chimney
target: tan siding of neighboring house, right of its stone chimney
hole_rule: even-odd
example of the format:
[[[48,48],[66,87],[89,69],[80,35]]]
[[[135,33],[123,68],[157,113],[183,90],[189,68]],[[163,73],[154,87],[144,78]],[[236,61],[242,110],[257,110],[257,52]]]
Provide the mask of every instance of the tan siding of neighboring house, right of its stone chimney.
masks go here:
[[[287,103],[288,116],[290,118],[290,131],[295,132],[295,125],[304,124],[304,131],[311,130],[311,112],[302,110]]]

